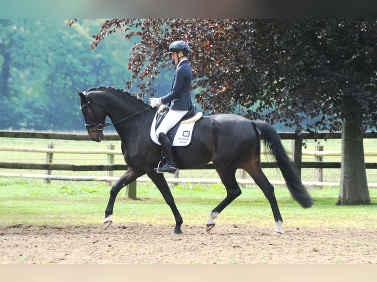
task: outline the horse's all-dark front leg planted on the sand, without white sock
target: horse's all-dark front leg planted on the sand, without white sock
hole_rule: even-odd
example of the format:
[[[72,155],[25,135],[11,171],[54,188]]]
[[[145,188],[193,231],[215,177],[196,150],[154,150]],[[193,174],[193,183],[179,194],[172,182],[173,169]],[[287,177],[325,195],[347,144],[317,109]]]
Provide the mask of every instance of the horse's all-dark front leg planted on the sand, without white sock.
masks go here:
[[[181,226],[183,223],[183,219],[174,202],[174,197],[170,192],[170,188],[166,182],[165,177],[163,176],[162,173],[157,173],[157,172],[148,173],[148,176],[156,184],[159,192],[161,193],[162,197],[165,199],[165,202],[169,205],[171,211],[173,212],[173,215],[175,218],[175,226],[171,234],[181,234],[182,233]]]

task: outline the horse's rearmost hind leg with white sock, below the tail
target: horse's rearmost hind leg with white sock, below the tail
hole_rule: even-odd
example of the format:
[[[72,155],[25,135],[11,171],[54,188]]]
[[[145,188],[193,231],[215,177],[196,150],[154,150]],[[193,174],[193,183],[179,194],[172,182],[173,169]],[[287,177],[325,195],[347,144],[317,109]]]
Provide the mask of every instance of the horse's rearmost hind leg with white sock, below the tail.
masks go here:
[[[274,215],[275,219],[275,232],[283,234],[283,219],[280,214],[280,210],[278,207],[278,202],[276,201],[275,192],[274,192],[274,186],[268,181],[266,175],[263,173],[260,165],[256,166],[248,166],[243,167],[252,179],[255,181],[255,184],[259,186],[259,188],[262,190],[264,196],[268,199],[271,205],[272,213]]]

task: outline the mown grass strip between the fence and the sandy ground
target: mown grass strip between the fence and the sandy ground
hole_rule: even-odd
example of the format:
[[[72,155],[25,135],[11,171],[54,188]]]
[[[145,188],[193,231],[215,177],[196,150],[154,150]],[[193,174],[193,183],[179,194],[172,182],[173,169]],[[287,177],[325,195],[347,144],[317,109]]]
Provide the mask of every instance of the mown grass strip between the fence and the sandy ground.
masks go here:
[[[184,224],[205,224],[209,212],[225,197],[219,186],[171,187]],[[338,189],[310,190],[314,206],[301,208],[286,188],[276,188],[284,226],[337,226],[377,228],[377,189],[370,189],[373,205],[337,206]],[[124,193],[123,193],[124,194]],[[170,208],[154,185],[138,188],[138,200],[117,198],[115,223],[174,224]],[[0,225],[14,224],[101,224],[109,197],[109,187],[85,186],[77,182],[43,184],[41,180],[0,179]],[[217,220],[218,224],[273,226],[268,201],[259,189],[243,189]]]

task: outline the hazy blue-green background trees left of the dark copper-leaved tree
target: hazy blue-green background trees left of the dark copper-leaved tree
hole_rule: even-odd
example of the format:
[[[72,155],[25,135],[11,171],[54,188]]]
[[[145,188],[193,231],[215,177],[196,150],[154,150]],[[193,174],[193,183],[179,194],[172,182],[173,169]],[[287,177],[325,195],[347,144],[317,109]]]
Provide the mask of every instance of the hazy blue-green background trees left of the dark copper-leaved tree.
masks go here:
[[[66,21],[0,19],[2,129],[83,129],[76,89],[124,85],[130,78],[120,36],[88,52],[89,34],[102,20],[73,28]]]

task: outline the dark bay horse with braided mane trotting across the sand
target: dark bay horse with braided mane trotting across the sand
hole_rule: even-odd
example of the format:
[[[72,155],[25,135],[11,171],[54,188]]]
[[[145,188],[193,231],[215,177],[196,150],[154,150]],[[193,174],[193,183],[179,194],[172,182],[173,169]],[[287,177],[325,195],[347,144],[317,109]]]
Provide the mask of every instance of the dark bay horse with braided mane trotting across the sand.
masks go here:
[[[113,125],[121,138],[121,148],[128,168],[114,183],[105,209],[103,229],[111,225],[116,197],[123,187],[147,174],[155,183],[175,219],[172,234],[182,233],[182,216],[175,204],[163,173],[154,170],[161,160],[161,146],[150,136],[151,125],[157,110],[148,103],[115,87],[101,86],[81,92],[80,109],[90,140],[100,142],[103,129]],[[111,122],[105,123],[108,116]],[[236,197],[241,189],[236,180],[236,170],[246,170],[268,199],[275,220],[276,233],[283,232],[274,187],[262,171],[260,161],[261,140],[276,159],[291,197],[303,208],[313,205],[313,199],[303,186],[291,159],[288,157],[279,134],[265,121],[253,121],[237,114],[224,113],[203,116],[195,122],[193,140],[187,147],[174,147],[178,169],[192,169],[212,162],[226,189],[226,197],[210,212],[206,230],[215,226],[220,212]]]

